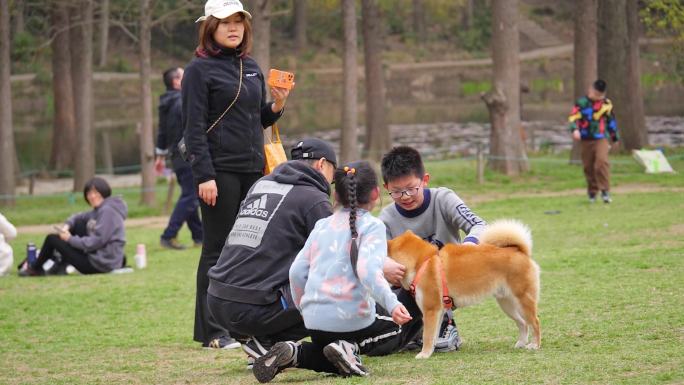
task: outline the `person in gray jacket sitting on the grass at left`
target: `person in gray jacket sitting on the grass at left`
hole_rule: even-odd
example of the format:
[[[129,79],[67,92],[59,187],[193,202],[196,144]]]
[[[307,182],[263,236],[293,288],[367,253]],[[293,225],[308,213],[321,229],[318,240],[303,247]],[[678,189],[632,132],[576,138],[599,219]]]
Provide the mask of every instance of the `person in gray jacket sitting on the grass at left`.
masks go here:
[[[55,251],[61,255],[61,260],[55,261],[58,265],[72,265],[81,274],[108,273],[122,267],[128,208],[111,194],[111,187],[102,178],[86,182],[83,197],[93,209],[72,215],[57,234],[48,235],[38,258],[25,262],[19,275],[44,275],[42,266],[48,259],[55,260]]]

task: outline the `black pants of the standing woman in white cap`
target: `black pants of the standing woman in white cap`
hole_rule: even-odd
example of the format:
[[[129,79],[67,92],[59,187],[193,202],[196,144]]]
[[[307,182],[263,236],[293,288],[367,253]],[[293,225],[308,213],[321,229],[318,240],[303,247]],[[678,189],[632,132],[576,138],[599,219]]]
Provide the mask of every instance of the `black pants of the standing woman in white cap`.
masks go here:
[[[262,174],[259,173],[219,172],[215,179],[218,188],[216,205],[209,206],[200,201],[204,240],[202,242],[202,255],[199,266],[197,266],[194,339],[205,345],[214,338],[228,335],[228,332],[213,319],[209,312],[207,305],[209,278],[207,278],[207,272],[216,265],[221,255],[228,233],[235,223],[240,202],[245,199],[247,191],[261,176]]]

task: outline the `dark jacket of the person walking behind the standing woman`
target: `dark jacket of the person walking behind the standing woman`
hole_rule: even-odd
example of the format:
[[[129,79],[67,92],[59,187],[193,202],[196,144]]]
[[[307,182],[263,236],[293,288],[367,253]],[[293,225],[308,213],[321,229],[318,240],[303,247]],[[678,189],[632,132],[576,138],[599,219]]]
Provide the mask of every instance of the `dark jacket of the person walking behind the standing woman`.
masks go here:
[[[159,97],[159,130],[157,148],[176,154],[176,145],[183,135],[183,119],[180,90],[167,90]]]

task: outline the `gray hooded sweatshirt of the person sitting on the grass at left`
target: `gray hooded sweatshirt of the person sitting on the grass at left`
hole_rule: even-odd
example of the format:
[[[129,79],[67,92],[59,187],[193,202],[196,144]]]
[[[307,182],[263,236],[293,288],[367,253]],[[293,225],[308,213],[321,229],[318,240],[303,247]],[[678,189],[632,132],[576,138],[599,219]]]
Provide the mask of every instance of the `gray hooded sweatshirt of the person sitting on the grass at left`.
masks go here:
[[[88,235],[73,235],[69,244],[88,254],[90,263],[99,271],[106,273],[121,267],[123,249],[126,245],[124,219],[128,214],[126,203],[119,197],[108,197],[102,204],[91,210],[74,214],[66,224],[73,228],[76,222],[86,221]]]

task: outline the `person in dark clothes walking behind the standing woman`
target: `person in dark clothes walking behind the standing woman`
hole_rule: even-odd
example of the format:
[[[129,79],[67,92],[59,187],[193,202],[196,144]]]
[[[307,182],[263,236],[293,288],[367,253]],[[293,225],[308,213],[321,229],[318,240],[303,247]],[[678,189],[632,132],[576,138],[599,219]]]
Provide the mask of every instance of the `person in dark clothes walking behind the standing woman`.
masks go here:
[[[185,246],[178,243],[178,231],[187,222],[195,245],[202,244],[202,222],[199,219],[197,190],[192,182],[190,164],[183,160],[176,150],[176,145],[183,135],[183,119],[181,118],[181,81],[183,69],[170,68],[164,71],[164,85],[166,92],[159,97],[159,132],[157,133],[157,148],[154,168],[161,173],[166,158],[171,158],[173,172],[176,173],[181,196],[173,208],[169,224],[164,229],[159,243],[167,249],[181,250]]]

